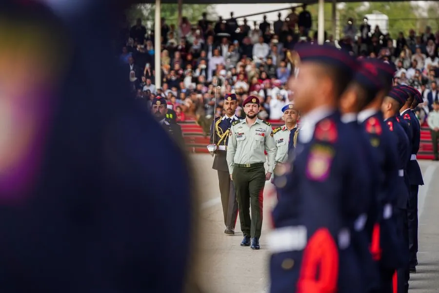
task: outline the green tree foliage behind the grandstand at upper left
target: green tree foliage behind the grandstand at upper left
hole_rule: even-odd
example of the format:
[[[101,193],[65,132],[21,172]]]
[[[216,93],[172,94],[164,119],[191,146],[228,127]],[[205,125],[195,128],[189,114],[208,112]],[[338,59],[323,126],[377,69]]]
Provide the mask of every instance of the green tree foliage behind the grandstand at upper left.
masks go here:
[[[166,19],[168,24],[178,24],[178,4],[161,4],[161,17]],[[203,12],[206,12],[209,20],[217,20],[215,5],[211,4],[183,4],[182,16],[187,17],[192,24],[201,19]],[[127,10],[127,17],[133,24],[140,18],[143,22],[153,28],[155,16],[154,4],[137,4]]]

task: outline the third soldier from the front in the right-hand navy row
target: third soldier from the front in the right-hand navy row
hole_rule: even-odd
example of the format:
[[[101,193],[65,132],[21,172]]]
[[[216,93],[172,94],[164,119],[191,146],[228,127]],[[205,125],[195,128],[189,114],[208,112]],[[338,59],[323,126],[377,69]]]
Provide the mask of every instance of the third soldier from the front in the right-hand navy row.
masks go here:
[[[404,256],[399,248],[403,242],[398,227],[397,210],[400,193],[395,186],[401,184],[398,175],[397,145],[383,121],[381,104],[391,89],[396,69],[378,59],[362,59],[360,69],[348,93],[358,98],[358,120],[369,138],[378,162],[378,190],[375,196],[376,214],[368,217],[366,231],[370,234],[370,251],[379,268],[379,288],[370,292],[392,292],[392,278],[401,266]],[[402,183],[403,184],[403,183]],[[404,194],[403,200],[406,198]]]

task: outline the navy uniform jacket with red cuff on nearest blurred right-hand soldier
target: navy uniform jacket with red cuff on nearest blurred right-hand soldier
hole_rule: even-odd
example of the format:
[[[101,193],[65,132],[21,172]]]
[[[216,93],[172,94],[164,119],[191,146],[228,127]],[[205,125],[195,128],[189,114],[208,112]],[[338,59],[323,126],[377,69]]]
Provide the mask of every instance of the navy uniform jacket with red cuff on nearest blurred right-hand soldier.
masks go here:
[[[309,142],[298,139],[273,223],[274,234],[292,231],[300,241],[271,256],[271,293],[314,292],[315,286],[365,290],[361,260],[351,244],[352,223],[368,212],[371,201],[366,156],[352,144],[357,136],[335,112],[316,124]]]

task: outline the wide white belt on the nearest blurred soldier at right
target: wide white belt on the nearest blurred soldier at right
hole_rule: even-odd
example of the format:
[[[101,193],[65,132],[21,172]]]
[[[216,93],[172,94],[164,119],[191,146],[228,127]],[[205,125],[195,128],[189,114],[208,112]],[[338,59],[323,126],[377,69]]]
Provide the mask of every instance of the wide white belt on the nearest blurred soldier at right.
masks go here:
[[[272,254],[303,250],[307,242],[305,226],[275,229],[268,234],[267,246]]]

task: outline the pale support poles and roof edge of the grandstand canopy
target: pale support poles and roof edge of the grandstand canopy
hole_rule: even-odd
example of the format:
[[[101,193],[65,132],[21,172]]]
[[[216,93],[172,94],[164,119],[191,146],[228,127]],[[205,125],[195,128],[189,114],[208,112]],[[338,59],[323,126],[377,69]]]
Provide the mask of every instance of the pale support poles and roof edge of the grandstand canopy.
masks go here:
[[[404,1],[404,0],[400,0]],[[258,0],[258,3],[273,3],[273,0]],[[324,23],[325,23],[325,16],[324,16],[324,4],[325,0],[301,0],[301,1],[295,1],[295,0],[275,0],[276,3],[289,3],[289,4],[319,4],[319,10],[318,10],[318,17],[317,17],[317,41],[319,44],[323,44],[324,39]],[[330,0],[326,1],[332,3],[332,28],[334,30],[333,35],[335,36],[335,28],[336,28],[336,11],[337,11],[337,0]],[[345,0],[345,1],[339,1],[339,2],[360,2],[359,0]],[[369,2],[381,2],[381,1],[369,1]],[[389,1],[389,2],[397,2],[397,1]],[[183,0],[139,0],[138,3],[155,3],[155,20],[154,21],[154,36],[155,36],[155,48],[154,51],[155,54],[155,81],[156,81],[156,87],[160,88],[161,86],[161,69],[160,69],[160,4],[179,4],[179,22],[181,20],[181,7]],[[235,0],[233,2],[230,2],[230,0],[185,0],[185,4],[255,4],[254,0]],[[292,5],[292,7],[295,5]],[[159,54],[157,54],[159,53]]]

